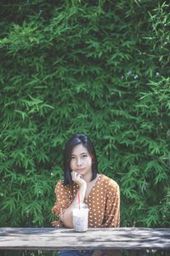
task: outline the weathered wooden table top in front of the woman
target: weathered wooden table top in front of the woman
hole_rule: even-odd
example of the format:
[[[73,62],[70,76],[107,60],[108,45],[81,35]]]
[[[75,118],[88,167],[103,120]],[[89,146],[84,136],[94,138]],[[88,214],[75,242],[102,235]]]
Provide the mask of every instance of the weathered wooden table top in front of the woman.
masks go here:
[[[8,250],[168,250],[170,229],[71,229],[0,228],[0,249]]]

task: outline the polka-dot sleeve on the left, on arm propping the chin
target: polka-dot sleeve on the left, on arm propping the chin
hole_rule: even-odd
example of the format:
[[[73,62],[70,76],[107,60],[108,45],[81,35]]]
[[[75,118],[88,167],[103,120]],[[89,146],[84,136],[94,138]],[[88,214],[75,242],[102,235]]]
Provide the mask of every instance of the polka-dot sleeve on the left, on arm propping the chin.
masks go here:
[[[65,212],[65,209],[70,206],[71,199],[69,198],[67,189],[65,189],[61,181],[57,183],[54,192],[56,195],[56,201],[52,208],[52,213],[59,217],[59,214]]]

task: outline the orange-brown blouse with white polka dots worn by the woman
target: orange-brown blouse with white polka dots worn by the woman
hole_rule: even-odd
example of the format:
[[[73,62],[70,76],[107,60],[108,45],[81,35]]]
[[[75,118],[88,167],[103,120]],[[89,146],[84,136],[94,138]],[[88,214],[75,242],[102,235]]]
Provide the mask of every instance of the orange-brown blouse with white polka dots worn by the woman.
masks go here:
[[[59,181],[54,189],[56,202],[52,208],[52,213],[59,217],[59,213],[64,212],[71,205],[77,195],[79,186],[73,183],[73,187],[64,186]],[[89,208],[88,227],[106,228],[118,227],[120,224],[120,191],[118,184],[110,177],[99,174],[94,187],[91,189],[88,198],[84,202]],[[59,220],[55,223],[61,227],[64,224]]]

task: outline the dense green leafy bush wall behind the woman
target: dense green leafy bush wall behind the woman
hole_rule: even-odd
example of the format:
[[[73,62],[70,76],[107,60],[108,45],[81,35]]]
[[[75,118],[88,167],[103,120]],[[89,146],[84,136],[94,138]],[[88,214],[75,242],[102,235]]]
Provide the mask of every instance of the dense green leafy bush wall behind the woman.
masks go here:
[[[1,226],[50,226],[75,132],[120,185],[121,226],[170,226],[168,6],[1,1]]]

